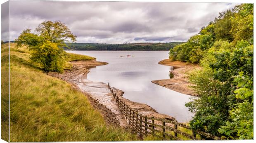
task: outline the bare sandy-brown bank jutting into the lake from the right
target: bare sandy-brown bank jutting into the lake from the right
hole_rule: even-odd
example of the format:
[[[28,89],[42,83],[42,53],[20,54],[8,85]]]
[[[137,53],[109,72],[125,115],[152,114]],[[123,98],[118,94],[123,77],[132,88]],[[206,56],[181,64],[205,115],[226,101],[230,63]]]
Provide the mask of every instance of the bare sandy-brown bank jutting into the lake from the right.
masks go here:
[[[153,80],[151,82],[183,94],[197,96],[189,87],[192,84],[189,82],[186,73],[194,69],[199,69],[200,66],[197,64],[185,63],[181,61],[171,61],[170,59],[162,60],[159,62],[159,64],[173,66],[173,70],[170,72],[173,73],[174,76],[171,79]]]

